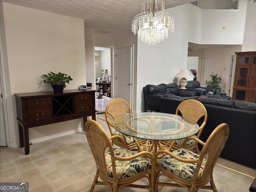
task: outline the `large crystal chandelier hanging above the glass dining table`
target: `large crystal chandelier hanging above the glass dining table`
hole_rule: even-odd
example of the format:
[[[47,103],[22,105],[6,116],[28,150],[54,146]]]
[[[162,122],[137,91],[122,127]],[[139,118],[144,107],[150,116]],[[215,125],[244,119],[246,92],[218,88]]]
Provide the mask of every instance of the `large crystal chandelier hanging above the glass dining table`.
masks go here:
[[[150,0],[143,1],[141,13],[132,19],[132,32],[138,33],[138,38],[150,46],[168,38],[174,27],[174,19],[164,10],[162,0],[154,0],[153,5]]]

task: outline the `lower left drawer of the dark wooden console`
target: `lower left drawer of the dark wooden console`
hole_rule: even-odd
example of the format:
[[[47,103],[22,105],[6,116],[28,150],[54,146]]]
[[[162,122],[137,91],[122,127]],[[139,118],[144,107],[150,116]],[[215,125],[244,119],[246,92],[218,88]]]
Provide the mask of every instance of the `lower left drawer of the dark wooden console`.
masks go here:
[[[52,118],[52,108],[30,110],[27,111],[27,115],[28,122],[49,119]]]

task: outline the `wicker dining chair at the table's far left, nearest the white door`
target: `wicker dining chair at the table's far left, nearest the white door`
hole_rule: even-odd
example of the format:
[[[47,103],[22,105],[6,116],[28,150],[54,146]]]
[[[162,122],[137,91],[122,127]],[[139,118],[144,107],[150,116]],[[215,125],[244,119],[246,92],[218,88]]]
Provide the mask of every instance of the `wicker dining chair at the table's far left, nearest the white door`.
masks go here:
[[[106,107],[106,111],[105,111],[105,118],[106,118],[106,122],[108,124],[108,128],[109,128],[111,136],[119,135],[119,136],[125,138],[126,143],[124,145],[127,149],[138,150],[138,144],[135,142],[135,140],[132,136],[125,136],[124,134],[122,134],[118,131],[113,132],[114,120],[116,120],[117,118],[122,117],[124,115],[131,114],[131,113],[132,113],[132,110],[126,100],[121,99],[121,98],[115,98],[108,103],[108,105]],[[147,140],[140,140],[140,139],[138,141],[139,141],[139,143],[147,142]],[[118,138],[112,140],[112,142],[119,147],[123,146],[121,140],[119,140]]]

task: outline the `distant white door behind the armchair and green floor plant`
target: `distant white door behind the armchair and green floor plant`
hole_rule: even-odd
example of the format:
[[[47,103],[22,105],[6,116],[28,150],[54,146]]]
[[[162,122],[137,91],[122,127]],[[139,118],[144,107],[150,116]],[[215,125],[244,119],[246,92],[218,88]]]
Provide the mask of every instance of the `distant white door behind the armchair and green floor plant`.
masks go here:
[[[203,74],[200,85],[205,86],[205,81],[210,80],[210,74],[212,72],[217,73],[218,56],[205,56],[203,57]]]

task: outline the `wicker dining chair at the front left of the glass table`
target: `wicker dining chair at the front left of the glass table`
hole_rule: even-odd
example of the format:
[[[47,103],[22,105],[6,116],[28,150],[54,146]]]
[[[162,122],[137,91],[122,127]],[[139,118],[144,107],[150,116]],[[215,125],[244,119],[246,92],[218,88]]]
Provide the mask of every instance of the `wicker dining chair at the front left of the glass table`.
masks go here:
[[[119,192],[123,187],[134,187],[154,191],[154,170],[152,165],[154,157],[150,152],[139,152],[133,154],[126,148],[114,150],[111,140],[120,136],[108,137],[104,129],[95,120],[87,120],[85,134],[96,162],[96,175],[90,192],[96,185],[107,185],[111,192]],[[100,177],[101,180],[98,180]],[[134,182],[147,178],[145,184],[134,184]]]

